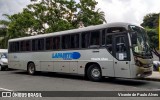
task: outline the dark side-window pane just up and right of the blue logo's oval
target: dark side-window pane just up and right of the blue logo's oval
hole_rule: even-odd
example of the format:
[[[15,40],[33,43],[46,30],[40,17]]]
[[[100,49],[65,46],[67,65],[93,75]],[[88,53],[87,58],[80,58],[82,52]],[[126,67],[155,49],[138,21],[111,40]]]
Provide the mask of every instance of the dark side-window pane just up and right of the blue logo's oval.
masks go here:
[[[81,34],[81,46],[82,48],[88,48],[89,45],[89,32]]]

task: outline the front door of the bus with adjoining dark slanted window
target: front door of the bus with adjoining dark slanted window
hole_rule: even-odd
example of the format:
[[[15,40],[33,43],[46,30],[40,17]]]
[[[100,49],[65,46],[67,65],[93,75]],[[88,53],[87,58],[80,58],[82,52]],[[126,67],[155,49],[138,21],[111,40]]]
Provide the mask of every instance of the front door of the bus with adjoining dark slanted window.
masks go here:
[[[107,39],[108,38],[108,39]],[[113,55],[113,66],[115,77],[130,78],[130,53],[129,53],[129,41],[127,33],[117,33],[106,35],[106,47],[107,40],[112,40],[112,46],[107,48]]]

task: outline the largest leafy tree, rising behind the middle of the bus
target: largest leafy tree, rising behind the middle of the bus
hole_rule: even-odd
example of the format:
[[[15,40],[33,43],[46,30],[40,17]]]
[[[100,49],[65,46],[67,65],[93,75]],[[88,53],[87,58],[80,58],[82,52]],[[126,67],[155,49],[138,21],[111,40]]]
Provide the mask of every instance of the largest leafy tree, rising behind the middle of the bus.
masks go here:
[[[95,10],[97,2],[94,0],[41,0],[31,4],[28,9],[34,13],[40,25],[48,25],[43,33],[69,30],[78,27],[80,21],[85,26],[106,22],[104,12]],[[42,28],[42,27],[41,27]]]

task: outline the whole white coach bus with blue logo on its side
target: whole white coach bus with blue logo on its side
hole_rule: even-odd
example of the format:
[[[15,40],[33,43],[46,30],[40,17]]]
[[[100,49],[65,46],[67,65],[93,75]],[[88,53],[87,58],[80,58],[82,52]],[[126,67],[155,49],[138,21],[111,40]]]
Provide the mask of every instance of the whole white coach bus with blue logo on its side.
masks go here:
[[[143,28],[110,23],[9,40],[9,68],[138,78],[152,74],[152,53]]]

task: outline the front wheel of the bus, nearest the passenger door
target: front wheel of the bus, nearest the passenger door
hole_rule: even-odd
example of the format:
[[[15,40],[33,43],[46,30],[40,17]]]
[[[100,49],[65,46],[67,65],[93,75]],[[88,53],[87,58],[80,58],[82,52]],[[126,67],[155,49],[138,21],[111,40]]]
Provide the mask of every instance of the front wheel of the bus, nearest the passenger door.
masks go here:
[[[91,81],[100,81],[102,79],[101,69],[97,64],[92,64],[87,70],[87,76]]]

